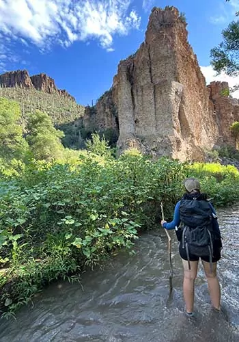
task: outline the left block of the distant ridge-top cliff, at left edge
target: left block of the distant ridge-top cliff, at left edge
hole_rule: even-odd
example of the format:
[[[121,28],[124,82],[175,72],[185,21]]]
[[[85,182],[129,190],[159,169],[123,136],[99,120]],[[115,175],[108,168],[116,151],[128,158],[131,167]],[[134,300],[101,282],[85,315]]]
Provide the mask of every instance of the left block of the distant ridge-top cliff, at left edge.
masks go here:
[[[33,84],[27,70],[10,71],[0,75],[0,86],[4,88],[32,89]]]

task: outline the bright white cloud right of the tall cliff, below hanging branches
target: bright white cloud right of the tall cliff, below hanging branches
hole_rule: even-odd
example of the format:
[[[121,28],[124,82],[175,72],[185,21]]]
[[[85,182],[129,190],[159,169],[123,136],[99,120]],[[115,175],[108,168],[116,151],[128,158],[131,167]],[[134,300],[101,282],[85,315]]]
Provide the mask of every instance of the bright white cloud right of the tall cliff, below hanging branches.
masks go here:
[[[200,68],[201,68],[201,72],[206,78],[207,84],[209,84],[212,81],[224,81],[224,82],[228,82],[230,88],[239,84],[239,76],[231,77],[231,76],[227,76],[225,73],[221,73],[220,75],[216,76],[216,73],[213,70],[212,66],[201,66]],[[231,96],[239,98],[239,90],[237,90],[234,93],[231,93]]]

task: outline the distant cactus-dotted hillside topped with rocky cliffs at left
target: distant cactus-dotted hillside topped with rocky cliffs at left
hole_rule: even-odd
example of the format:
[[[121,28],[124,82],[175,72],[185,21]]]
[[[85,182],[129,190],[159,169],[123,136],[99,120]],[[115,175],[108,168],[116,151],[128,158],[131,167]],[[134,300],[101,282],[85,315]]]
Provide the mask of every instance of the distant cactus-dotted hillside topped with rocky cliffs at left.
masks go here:
[[[46,74],[29,76],[27,70],[17,70],[0,75],[0,96],[20,104],[21,124],[25,126],[27,116],[40,109],[51,116],[55,127],[65,133],[63,142],[68,147],[82,145],[79,131],[85,107],[78,105],[66,90],[59,90],[54,79]]]

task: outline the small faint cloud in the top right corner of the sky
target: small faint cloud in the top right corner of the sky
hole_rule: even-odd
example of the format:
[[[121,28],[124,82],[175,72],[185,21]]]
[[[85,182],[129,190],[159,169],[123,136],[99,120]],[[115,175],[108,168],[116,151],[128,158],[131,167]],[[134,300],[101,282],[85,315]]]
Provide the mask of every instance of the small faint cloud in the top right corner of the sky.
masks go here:
[[[224,25],[235,19],[235,12],[239,11],[239,1],[230,0],[225,2],[221,0],[218,6],[217,14],[210,17],[210,23],[215,25]]]

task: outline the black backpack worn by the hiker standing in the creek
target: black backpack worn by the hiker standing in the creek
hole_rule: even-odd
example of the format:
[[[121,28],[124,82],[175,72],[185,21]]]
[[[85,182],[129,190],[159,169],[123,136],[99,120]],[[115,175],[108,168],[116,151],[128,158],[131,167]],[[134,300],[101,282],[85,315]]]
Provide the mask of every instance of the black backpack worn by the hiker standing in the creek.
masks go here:
[[[185,194],[180,202],[180,220],[182,222],[180,239],[182,239],[182,248],[186,249],[189,269],[191,269],[189,254],[209,257],[212,267],[213,215],[206,194]]]

